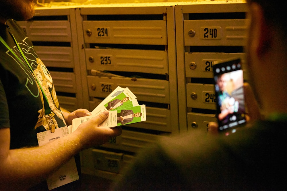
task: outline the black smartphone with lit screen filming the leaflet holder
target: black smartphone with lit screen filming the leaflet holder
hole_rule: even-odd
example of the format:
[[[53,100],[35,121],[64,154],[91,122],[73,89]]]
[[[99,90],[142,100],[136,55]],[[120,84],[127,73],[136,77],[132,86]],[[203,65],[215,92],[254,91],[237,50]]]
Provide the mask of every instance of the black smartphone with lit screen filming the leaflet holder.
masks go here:
[[[241,59],[224,60],[213,65],[218,130],[236,131],[246,123]]]

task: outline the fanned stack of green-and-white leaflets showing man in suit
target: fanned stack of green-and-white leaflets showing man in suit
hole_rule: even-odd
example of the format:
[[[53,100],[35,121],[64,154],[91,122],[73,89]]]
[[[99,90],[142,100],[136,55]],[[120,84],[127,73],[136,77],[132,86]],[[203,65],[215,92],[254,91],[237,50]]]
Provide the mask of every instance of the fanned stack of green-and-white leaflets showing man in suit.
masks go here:
[[[69,133],[75,131],[81,123],[104,111],[108,111],[109,116],[99,127],[111,128],[146,121],[146,105],[139,105],[129,88],[118,86],[92,111],[92,115],[73,119],[72,125],[69,126]]]

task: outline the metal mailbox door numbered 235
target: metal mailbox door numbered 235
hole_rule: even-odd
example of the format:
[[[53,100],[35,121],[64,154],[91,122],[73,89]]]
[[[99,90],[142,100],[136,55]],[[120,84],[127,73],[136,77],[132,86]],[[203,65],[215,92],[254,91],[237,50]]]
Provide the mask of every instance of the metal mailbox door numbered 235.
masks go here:
[[[87,69],[168,74],[168,54],[160,50],[86,49]]]

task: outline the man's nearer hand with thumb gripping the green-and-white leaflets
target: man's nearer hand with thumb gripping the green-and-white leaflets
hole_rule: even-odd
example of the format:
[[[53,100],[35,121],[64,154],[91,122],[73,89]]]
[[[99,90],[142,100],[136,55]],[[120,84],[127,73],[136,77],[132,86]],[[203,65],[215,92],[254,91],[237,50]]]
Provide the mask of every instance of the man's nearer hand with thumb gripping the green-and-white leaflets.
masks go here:
[[[82,123],[71,134],[75,135],[84,148],[90,148],[93,146],[102,145],[112,137],[121,135],[121,127],[107,128],[99,127],[108,117],[108,111],[104,111],[100,115]]]

